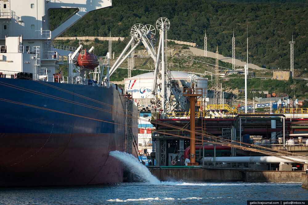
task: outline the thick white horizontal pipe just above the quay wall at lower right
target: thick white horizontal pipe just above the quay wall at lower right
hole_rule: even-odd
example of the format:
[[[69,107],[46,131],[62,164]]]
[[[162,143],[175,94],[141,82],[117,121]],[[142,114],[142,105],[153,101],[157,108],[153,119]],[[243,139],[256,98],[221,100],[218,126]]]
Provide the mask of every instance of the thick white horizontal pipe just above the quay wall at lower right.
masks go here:
[[[282,156],[282,157],[308,164],[308,159],[304,160],[288,156]],[[294,163],[294,161],[285,160],[275,156],[216,157],[216,159],[214,159],[214,157],[204,158],[204,161],[214,161],[214,160],[216,162]]]

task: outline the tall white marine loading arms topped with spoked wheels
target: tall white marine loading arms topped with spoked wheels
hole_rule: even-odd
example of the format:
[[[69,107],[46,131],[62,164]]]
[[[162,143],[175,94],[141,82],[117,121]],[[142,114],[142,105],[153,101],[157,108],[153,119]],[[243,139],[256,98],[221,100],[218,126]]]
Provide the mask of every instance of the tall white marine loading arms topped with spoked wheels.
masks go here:
[[[156,35],[156,29],[160,31],[160,39],[158,50],[156,52],[153,39]],[[133,50],[142,43],[147,50],[148,54],[154,61],[155,70],[154,78],[152,81],[152,104],[156,108],[162,109],[163,112],[172,112],[175,110],[185,110],[186,98],[183,96],[182,91],[176,81],[172,80],[171,72],[166,66],[166,32],[170,29],[170,21],[168,18],[161,17],[156,21],[156,29],[152,25],[135,24],[131,28],[131,39],[123,49],[122,53],[112,65],[109,74],[104,78],[109,82],[110,76],[117,68],[127,59]],[[132,42],[136,41],[135,45],[129,50]],[[125,54],[126,53],[126,54]],[[157,98],[157,91],[160,91],[160,97]]]

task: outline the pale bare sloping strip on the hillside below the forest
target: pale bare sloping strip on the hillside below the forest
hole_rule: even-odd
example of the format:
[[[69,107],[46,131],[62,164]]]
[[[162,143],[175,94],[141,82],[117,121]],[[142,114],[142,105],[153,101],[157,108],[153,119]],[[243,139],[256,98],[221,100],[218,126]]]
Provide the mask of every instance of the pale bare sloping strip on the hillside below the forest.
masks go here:
[[[193,54],[196,55],[196,56],[204,56],[204,49],[189,47],[189,50],[191,52],[193,52]],[[216,53],[208,51],[207,57],[216,58]],[[225,56],[219,54],[218,58],[221,61],[228,62],[228,63],[232,64],[232,58],[231,57],[225,57]],[[235,65],[244,67],[246,65],[246,62],[242,62],[241,60],[235,59]],[[265,70],[265,68],[261,68],[257,65],[252,64],[252,63],[248,63],[248,68]]]

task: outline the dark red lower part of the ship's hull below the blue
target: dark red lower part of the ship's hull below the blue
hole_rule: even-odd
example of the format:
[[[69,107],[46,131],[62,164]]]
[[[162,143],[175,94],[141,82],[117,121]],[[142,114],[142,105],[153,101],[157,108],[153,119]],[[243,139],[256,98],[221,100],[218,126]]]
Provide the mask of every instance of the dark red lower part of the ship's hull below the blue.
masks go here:
[[[123,182],[122,163],[108,153],[123,151],[125,142],[113,135],[1,133],[0,186]]]

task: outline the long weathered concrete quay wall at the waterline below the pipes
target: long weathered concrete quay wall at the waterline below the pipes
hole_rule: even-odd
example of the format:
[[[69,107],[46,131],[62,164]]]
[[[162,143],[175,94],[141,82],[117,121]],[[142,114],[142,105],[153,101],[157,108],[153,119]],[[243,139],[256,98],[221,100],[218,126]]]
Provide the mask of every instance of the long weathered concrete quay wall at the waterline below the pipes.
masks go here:
[[[163,181],[183,180],[186,182],[301,182],[302,173],[304,173],[303,171],[253,171],[185,167],[149,167],[149,171]]]

